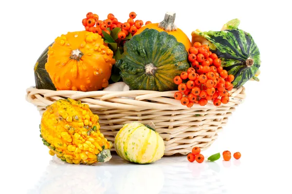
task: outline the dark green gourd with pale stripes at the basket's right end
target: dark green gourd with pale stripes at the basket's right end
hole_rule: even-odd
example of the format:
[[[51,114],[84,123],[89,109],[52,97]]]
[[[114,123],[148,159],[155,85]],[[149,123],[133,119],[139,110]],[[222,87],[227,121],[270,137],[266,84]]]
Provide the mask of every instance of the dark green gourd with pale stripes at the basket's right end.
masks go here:
[[[253,37],[237,29],[238,25],[239,20],[234,19],[227,22],[219,32],[192,32],[192,42],[201,40],[208,44],[211,51],[221,59],[223,69],[234,75],[234,87],[239,87],[250,79],[258,81],[255,75],[261,63]],[[207,41],[204,42],[201,38]]]

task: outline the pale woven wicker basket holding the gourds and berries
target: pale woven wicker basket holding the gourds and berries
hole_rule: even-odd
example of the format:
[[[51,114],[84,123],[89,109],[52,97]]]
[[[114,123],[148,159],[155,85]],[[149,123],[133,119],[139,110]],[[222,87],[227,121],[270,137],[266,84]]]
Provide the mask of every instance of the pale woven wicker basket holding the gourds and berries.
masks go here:
[[[242,86],[229,92],[228,104],[216,107],[213,101],[209,101],[203,107],[194,104],[192,108],[183,106],[173,98],[176,91],[80,92],[30,87],[26,92],[27,101],[37,106],[41,115],[46,106],[58,99],[70,97],[88,104],[91,111],[99,116],[101,132],[111,142],[114,142],[115,135],[124,124],[134,121],[149,124],[152,121],[164,139],[164,155],[185,155],[194,146],[202,150],[209,148],[235,107],[245,98],[245,88]],[[114,144],[111,149],[114,150]]]

